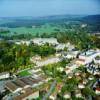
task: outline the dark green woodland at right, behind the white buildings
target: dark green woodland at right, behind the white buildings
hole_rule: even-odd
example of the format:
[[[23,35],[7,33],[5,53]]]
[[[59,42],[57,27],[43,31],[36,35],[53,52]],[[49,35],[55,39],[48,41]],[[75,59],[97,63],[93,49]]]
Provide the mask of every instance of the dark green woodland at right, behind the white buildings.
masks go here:
[[[75,31],[57,32],[49,35],[44,33],[41,37],[55,37],[60,43],[66,43],[69,41],[79,49],[100,48],[99,36],[89,34],[86,29],[82,28]]]

